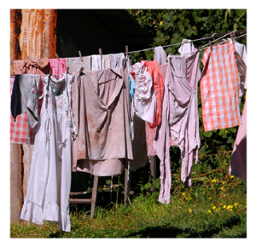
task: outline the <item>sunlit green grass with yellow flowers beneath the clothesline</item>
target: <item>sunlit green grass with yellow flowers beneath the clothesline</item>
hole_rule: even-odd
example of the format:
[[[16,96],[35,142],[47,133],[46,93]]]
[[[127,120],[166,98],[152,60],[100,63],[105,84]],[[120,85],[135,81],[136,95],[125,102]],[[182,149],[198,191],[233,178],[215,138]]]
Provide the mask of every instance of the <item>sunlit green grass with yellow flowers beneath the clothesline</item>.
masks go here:
[[[193,187],[173,188],[171,204],[158,202],[159,192],[145,192],[130,205],[98,206],[96,217],[72,210],[72,231],[57,224],[11,223],[11,238],[246,238],[246,183],[198,180]],[[146,195],[145,195],[146,194]],[[228,207],[230,206],[230,207]],[[232,206],[232,208],[231,208]],[[210,212],[210,211],[211,212]]]

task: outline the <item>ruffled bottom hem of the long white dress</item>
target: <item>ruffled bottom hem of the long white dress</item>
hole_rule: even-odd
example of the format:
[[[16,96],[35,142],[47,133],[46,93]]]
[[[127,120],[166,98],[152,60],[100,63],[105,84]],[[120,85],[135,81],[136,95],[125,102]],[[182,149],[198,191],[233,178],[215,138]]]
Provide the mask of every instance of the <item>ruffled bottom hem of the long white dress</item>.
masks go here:
[[[38,225],[43,225],[43,221],[51,221],[58,223],[59,229],[65,232],[70,232],[69,210],[61,212],[58,204],[44,202],[44,210],[38,204],[32,201],[25,201],[23,204],[20,219],[32,221]]]

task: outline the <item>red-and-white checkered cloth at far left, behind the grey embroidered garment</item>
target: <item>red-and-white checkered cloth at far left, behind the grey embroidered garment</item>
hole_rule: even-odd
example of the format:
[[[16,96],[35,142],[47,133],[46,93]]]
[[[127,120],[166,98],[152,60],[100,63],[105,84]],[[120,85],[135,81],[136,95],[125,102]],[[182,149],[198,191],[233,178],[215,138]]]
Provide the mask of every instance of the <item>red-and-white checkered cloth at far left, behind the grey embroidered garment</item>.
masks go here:
[[[10,77],[10,101],[13,93],[13,87],[15,83],[15,77]],[[43,83],[39,83],[39,95],[42,95]],[[38,101],[38,113],[41,111],[43,99]],[[20,114],[15,119],[10,112],[10,142],[15,144],[32,145],[35,141],[35,135],[37,133],[37,126],[33,129],[28,124],[28,118],[26,112]],[[39,115],[38,115],[39,116]]]

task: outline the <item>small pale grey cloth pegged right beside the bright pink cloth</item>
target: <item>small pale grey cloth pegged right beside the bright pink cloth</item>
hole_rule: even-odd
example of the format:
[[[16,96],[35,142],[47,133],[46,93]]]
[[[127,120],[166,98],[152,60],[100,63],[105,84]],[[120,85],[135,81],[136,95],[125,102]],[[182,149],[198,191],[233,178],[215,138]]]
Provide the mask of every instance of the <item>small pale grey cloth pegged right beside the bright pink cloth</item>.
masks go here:
[[[66,58],[66,66],[69,67],[69,72],[79,72],[80,68],[84,67],[84,72],[90,72],[91,56],[83,56],[83,61],[79,57]]]

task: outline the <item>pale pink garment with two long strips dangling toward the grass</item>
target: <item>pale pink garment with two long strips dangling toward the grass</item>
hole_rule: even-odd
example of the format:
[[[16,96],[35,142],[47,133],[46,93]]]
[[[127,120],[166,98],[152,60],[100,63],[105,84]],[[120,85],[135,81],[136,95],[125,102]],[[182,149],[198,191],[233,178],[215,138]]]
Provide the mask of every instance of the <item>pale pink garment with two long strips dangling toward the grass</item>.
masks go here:
[[[154,141],[154,149],[160,158],[159,201],[163,204],[170,203],[172,184],[170,137],[181,151],[181,181],[184,187],[191,185],[191,167],[193,160],[197,163],[200,147],[197,106],[197,82],[200,77],[197,49],[190,55],[171,55],[168,59],[162,123],[157,129]]]

